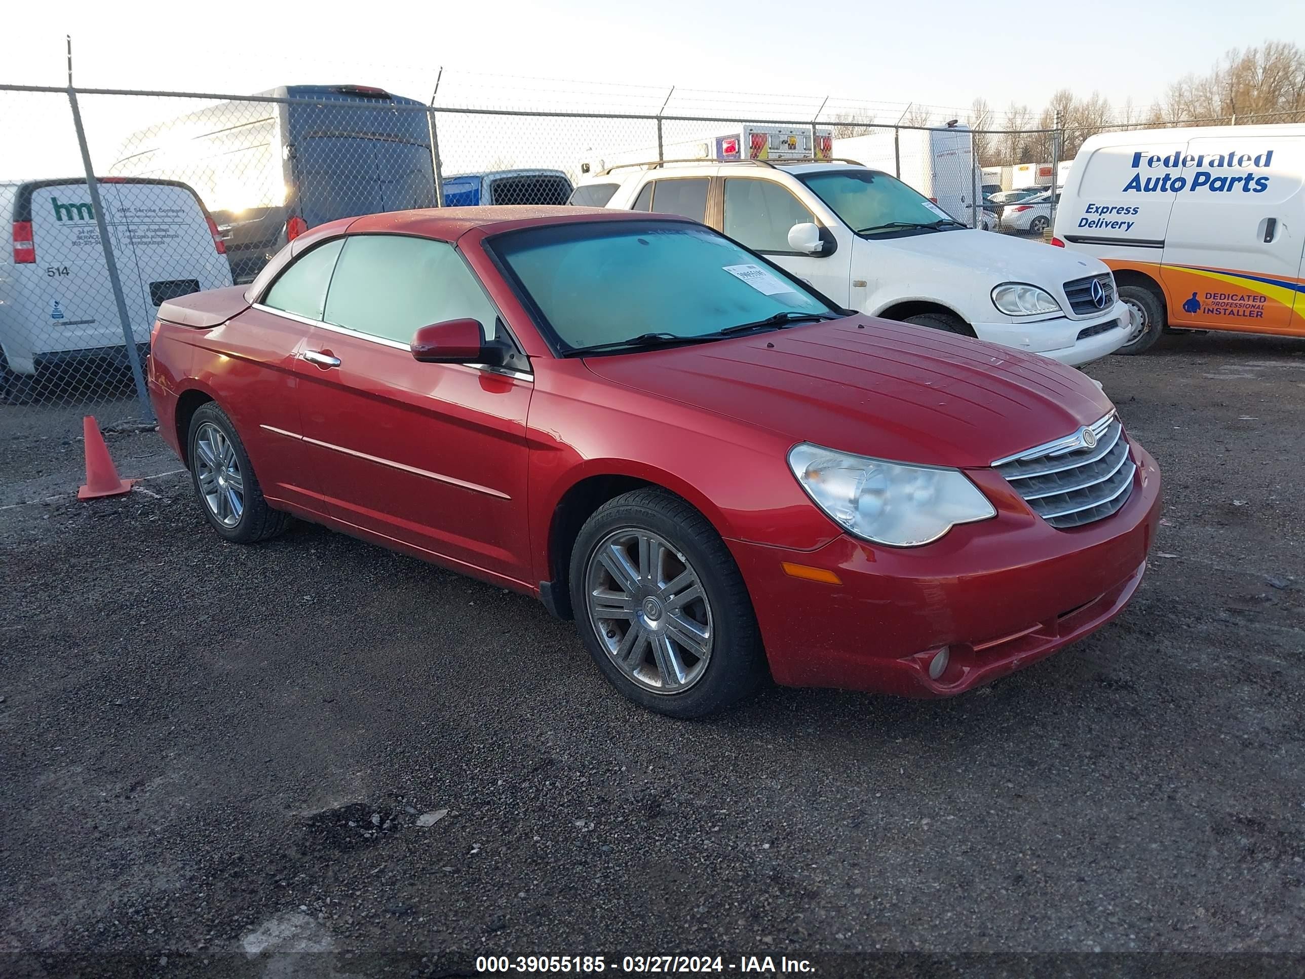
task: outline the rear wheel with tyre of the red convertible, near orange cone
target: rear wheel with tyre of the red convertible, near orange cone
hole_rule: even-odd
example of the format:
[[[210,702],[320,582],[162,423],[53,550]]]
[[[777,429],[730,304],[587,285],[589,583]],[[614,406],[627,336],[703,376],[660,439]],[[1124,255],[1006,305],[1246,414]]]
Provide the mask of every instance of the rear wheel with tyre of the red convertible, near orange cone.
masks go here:
[[[253,544],[290,526],[290,514],[271,509],[262,497],[240,436],[215,402],[201,405],[191,418],[187,458],[200,510],[218,536],[236,544]],[[222,465],[215,466],[211,459]]]

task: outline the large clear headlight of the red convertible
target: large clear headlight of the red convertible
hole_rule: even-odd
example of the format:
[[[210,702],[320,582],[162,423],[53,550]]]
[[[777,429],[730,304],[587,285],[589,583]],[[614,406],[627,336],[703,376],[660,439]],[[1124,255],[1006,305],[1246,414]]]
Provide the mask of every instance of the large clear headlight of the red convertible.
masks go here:
[[[878,544],[927,544],[957,523],[997,516],[955,469],[903,466],[810,443],[788,452],[788,467],[835,523]]]

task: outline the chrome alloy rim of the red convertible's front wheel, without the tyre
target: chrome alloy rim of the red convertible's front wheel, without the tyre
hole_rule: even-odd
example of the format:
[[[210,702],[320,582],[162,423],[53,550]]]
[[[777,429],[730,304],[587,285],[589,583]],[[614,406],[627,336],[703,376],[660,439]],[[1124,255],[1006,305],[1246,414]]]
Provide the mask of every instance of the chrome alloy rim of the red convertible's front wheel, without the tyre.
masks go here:
[[[594,632],[620,671],[652,693],[702,679],[715,630],[697,570],[664,538],[622,527],[594,548],[585,593]]]

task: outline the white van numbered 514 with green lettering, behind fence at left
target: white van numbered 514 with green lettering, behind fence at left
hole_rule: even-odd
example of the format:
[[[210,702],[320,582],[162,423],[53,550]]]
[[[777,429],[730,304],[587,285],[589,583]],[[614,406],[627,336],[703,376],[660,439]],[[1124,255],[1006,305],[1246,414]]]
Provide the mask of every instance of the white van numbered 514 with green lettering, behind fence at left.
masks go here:
[[[231,285],[224,247],[194,191],[170,180],[100,178],[137,347],[159,305]],[[127,347],[85,179],[0,183],[0,398],[25,402],[38,373],[78,362],[125,365]]]

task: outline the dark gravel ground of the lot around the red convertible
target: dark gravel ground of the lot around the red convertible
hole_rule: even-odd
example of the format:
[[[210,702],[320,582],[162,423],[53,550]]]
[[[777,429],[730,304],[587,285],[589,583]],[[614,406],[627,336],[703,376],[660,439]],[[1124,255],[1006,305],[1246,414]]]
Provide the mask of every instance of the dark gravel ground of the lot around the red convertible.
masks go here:
[[[224,544],[183,475],[78,504],[68,419],[0,410],[0,971],[1300,974],[1305,343],[1088,372],[1167,480],[1120,619],[957,700],[702,723],[626,704],[526,598],[312,526]]]

